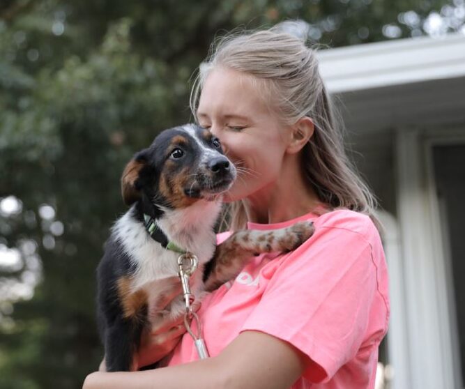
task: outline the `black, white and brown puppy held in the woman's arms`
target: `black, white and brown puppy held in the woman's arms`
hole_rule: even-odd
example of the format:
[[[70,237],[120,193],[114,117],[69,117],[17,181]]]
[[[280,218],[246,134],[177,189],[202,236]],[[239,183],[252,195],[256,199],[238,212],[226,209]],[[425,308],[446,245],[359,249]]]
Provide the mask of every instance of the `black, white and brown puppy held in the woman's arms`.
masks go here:
[[[197,255],[190,277],[199,298],[231,280],[253,254],[294,250],[313,234],[300,222],[275,231],[237,231],[216,246],[214,226],[222,193],[236,179],[220,141],[197,125],[160,133],[128,163],[121,178],[129,210],[114,224],[98,266],[98,322],[107,371],[134,368],[142,330],[167,310],[185,312],[182,296],[165,307],[168,277],[178,274],[179,251]]]

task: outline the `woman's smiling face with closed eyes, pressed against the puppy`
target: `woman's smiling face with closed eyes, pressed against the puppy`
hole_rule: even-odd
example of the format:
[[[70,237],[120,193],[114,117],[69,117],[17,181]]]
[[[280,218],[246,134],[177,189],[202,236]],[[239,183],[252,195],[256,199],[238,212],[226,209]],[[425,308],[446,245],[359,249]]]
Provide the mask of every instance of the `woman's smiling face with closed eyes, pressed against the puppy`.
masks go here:
[[[199,124],[220,139],[238,168],[225,201],[260,197],[280,176],[289,130],[270,113],[257,82],[243,73],[214,68],[202,89]]]

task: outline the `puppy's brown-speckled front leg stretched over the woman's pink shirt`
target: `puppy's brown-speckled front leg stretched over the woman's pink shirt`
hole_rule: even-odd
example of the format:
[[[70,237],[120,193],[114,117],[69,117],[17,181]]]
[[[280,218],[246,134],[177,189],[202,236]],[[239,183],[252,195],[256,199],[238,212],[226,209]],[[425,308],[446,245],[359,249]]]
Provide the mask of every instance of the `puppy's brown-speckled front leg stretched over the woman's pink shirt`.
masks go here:
[[[295,250],[313,233],[312,222],[298,222],[283,229],[234,232],[216,247],[215,256],[206,264],[206,290],[212,291],[236,277],[252,255]]]

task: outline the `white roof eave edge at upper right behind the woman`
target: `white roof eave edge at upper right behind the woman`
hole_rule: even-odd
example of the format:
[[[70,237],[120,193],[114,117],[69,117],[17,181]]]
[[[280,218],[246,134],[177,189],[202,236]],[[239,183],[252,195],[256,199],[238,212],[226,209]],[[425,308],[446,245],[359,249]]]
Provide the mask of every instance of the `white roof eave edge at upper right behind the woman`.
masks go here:
[[[461,33],[326,49],[317,55],[329,93],[465,76]]]

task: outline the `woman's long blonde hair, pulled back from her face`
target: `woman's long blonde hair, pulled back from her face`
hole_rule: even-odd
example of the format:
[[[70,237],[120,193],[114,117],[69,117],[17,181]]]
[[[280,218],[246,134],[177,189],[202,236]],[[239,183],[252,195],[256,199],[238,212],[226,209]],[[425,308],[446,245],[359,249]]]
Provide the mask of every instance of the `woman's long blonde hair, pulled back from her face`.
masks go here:
[[[201,89],[213,68],[253,76],[283,123],[291,125],[304,116],[312,119],[315,129],[303,148],[303,167],[319,200],[328,208],[348,208],[376,220],[376,200],[344,151],[342,121],[335,118],[335,107],[319,74],[316,49],[287,32],[289,25],[296,31],[296,24],[287,22],[263,31],[230,33],[214,42],[192,87],[192,114],[197,119]],[[229,228],[245,227],[242,202],[230,208]]]

